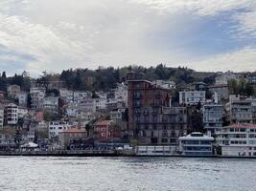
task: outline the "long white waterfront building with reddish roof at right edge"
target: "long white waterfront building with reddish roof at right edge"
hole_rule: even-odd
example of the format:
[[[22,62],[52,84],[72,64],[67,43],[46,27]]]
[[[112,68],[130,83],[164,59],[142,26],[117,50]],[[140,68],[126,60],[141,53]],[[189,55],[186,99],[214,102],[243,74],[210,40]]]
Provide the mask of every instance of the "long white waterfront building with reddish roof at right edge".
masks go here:
[[[256,124],[232,124],[216,135],[222,156],[256,156]]]

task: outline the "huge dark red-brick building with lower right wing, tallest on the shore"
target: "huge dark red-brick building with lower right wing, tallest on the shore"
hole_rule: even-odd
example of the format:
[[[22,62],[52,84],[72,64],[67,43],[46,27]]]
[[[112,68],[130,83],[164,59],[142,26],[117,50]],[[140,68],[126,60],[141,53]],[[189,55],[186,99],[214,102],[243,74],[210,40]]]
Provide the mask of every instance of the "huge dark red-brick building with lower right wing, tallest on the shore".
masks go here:
[[[128,130],[140,144],[177,144],[187,129],[186,109],[170,107],[170,90],[128,74]]]

